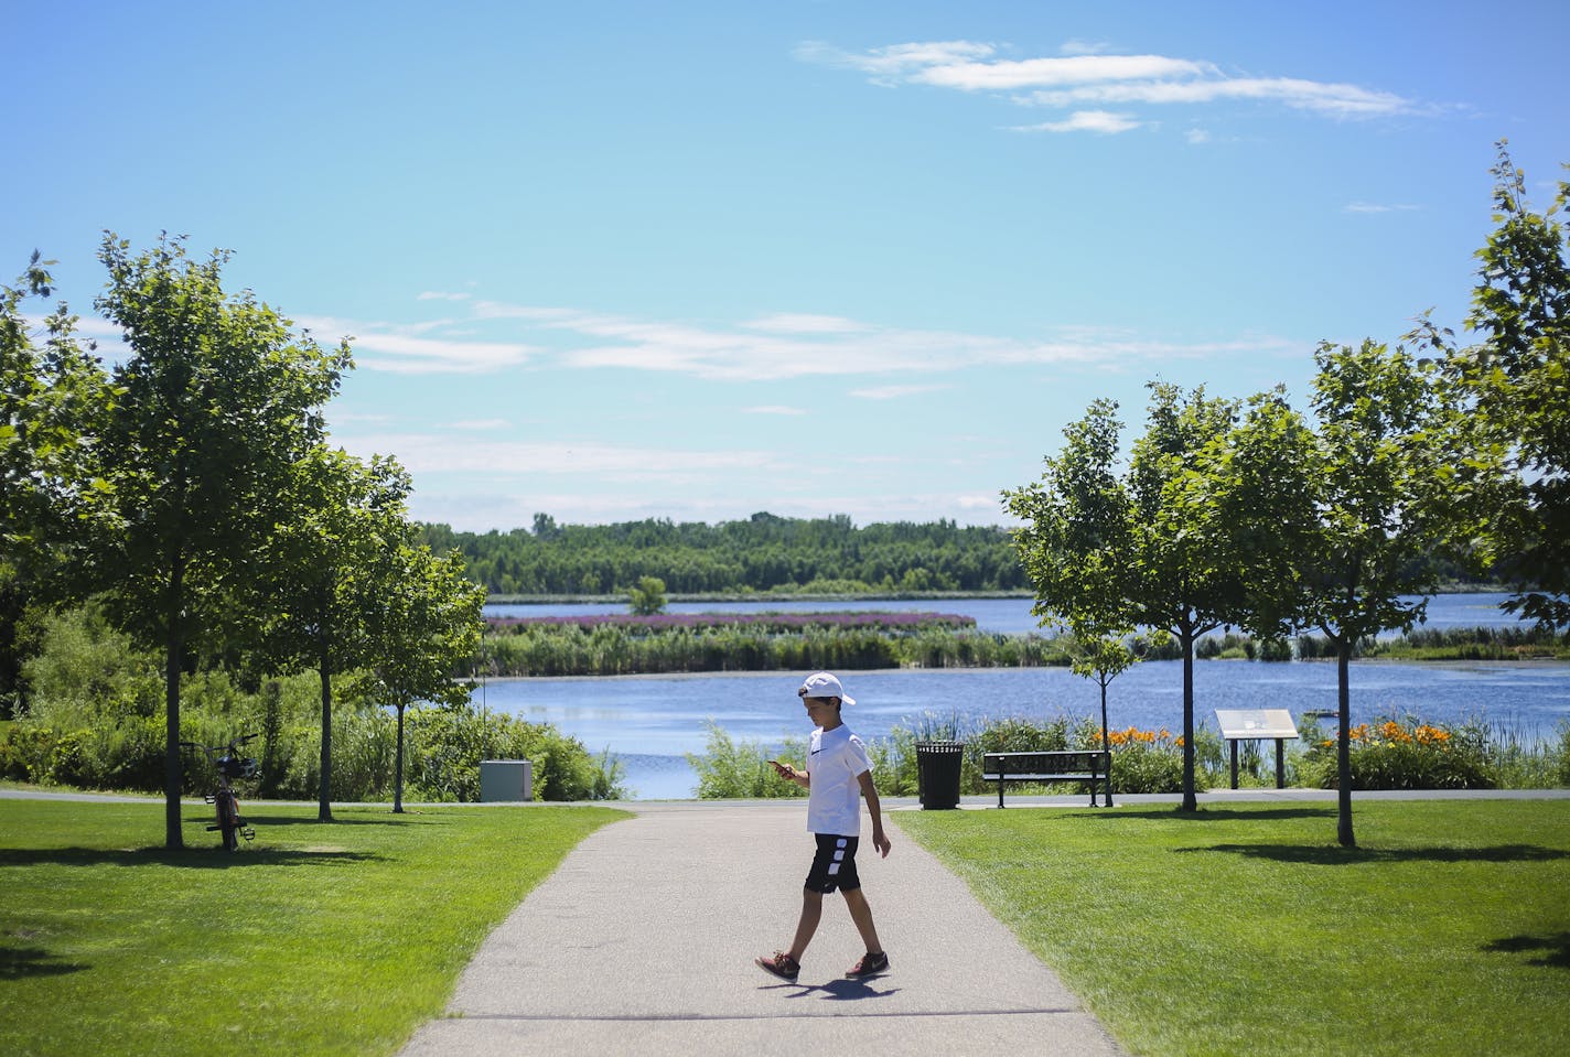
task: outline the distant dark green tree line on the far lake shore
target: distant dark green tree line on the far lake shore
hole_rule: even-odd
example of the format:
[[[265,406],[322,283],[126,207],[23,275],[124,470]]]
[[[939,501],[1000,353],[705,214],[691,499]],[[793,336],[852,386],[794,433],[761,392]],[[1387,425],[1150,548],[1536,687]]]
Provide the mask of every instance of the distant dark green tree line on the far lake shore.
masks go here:
[[[856,528],[849,517],[702,525],[648,518],[617,525],[455,532],[422,526],[436,551],[463,556],[491,595],[609,595],[656,576],[672,594],[917,594],[1027,591],[1030,580],[1006,529],[955,521],[892,521]]]

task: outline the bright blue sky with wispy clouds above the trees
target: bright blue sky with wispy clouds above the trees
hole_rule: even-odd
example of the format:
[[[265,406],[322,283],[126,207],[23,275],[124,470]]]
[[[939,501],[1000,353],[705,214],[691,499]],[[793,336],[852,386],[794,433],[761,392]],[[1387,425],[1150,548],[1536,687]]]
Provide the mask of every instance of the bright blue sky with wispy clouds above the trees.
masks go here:
[[[0,0],[0,270],[234,251],[460,529],[1005,523],[1096,397],[1463,319],[1570,6]],[[9,264],[5,264],[9,262]]]

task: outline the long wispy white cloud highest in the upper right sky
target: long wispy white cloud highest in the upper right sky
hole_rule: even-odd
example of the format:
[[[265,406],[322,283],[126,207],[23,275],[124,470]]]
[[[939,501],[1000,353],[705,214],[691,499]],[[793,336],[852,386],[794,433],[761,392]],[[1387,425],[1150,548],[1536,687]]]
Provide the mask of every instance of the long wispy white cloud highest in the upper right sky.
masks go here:
[[[975,41],[892,44],[865,52],[809,42],[796,49],[796,57],[856,69],[882,85],[1011,93],[1008,97],[1019,105],[1082,113],[1096,113],[1094,108],[1104,107],[1198,107],[1226,101],[1275,102],[1333,118],[1374,118],[1418,108],[1402,96],[1361,85],[1302,77],[1239,77],[1206,60],[1108,55],[1083,41],[1071,41],[1063,50],[1066,53],[1060,57],[1014,60],[1000,57],[994,44]],[[1079,130],[1053,127],[1072,123],[1074,118],[1069,118],[1068,123],[1039,127],[1050,132]]]

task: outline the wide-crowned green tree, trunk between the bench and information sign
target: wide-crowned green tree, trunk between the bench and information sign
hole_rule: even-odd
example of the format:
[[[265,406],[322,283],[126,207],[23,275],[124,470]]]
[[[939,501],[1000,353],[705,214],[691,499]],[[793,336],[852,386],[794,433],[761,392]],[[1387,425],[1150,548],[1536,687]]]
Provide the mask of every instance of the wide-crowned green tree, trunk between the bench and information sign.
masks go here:
[[[1184,798],[1195,792],[1195,641],[1225,625],[1281,636],[1295,580],[1278,529],[1302,525],[1308,498],[1294,446],[1302,427],[1280,393],[1242,407],[1151,383],[1145,435],[1119,473],[1116,404],[1097,400],[1064,430],[1041,481],[1005,493],[1025,525],[1016,543],[1036,584],[1035,613],[1085,639],[1152,628],[1182,657]],[[1275,529],[1275,531],[1273,531]]]

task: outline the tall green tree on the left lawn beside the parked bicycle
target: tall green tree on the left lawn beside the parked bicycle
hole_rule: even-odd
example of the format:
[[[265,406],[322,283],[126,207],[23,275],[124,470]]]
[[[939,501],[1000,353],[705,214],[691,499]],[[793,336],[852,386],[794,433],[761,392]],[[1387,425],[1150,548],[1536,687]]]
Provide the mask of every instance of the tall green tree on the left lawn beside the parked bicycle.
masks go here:
[[[184,240],[144,253],[107,234],[97,298],[126,335],[119,399],[100,438],[115,528],[104,578],[111,619],[163,655],[165,843],[181,840],[181,674],[187,652],[248,620],[254,556],[279,523],[292,466],[323,433],[322,407],[350,364],[245,291],[229,295],[228,253],[192,261]],[[226,627],[228,625],[228,627]]]

